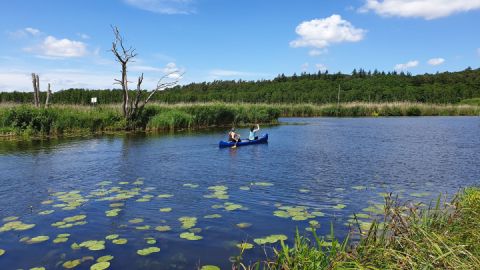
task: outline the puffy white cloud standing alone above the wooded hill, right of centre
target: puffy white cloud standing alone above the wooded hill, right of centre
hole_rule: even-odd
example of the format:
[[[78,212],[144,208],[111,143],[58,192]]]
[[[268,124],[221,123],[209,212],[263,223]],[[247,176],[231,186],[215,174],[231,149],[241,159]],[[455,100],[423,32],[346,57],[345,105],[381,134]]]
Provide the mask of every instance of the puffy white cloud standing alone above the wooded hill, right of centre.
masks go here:
[[[324,49],[335,43],[358,42],[364,38],[366,30],[355,28],[340,15],[333,14],[328,18],[302,22],[295,32],[300,38],[291,41],[291,47]]]

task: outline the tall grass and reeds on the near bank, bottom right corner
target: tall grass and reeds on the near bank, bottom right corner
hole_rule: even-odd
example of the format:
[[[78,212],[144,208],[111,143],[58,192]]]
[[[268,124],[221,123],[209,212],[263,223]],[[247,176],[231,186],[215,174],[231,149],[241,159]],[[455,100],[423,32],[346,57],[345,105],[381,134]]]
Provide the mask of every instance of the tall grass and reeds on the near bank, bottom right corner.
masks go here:
[[[384,219],[345,240],[295,237],[275,257],[237,269],[480,269],[480,189],[427,208],[386,198]],[[332,234],[332,238],[333,234]]]

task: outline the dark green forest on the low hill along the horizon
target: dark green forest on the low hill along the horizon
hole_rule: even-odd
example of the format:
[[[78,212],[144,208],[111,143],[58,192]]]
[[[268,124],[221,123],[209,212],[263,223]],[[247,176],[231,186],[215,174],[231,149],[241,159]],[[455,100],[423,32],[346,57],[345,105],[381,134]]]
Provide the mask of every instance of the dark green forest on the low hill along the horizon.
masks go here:
[[[340,88],[340,91],[339,91]],[[143,97],[152,92],[141,90]],[[129,91],[134,98],[138,90]],[[339,95],[340,94],[340,95]],[[456,103],[480,97],[480,68],[459,72],[412,75],[404,72],[380,72],[355,69],[351,74],[302,73],[278,75],[272,80],[217,80],[213,82],[177,85],[158,91],[151,101],[179,102],[249,102],[249,103],[335,103],[395,102]],[[0,102],[32,103],[32,92],[2,92]],[[121,103],[121,89],[67,89],[50,97],[56,104],[89,104],[97,97],[99,104]],[[45,100],[46,94],[40,94]]]

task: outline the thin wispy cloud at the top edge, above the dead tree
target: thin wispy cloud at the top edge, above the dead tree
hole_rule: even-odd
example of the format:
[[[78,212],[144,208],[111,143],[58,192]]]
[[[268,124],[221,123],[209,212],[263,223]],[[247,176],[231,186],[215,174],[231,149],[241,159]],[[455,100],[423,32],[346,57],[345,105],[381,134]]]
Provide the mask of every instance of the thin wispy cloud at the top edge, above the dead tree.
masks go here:
[[[194,0],[124,0],[139,9],[161,14],[195,13]]]

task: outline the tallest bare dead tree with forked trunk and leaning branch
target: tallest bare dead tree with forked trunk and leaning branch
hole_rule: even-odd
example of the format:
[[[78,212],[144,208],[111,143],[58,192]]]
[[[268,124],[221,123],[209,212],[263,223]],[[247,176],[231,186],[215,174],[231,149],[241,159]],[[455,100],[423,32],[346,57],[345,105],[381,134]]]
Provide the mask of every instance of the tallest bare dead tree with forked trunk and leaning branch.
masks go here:
[[[163,77],[158,80],[157,87],[152,90],[148,96],[141,102],[142,98],[142,83],[143,83],[143,73],[138,77],[137,81],[137,89],[135,91],[135,97],[130,99],[129,97],[129,90],[128,90],[128,79],[127,79],[127,66],[129,62],[133,62],[134,58],[138,55],[135,52],[135,49],[132,47],[126,48],[123,44],[123,37],[120,34],[120,31],[116,26],[112,26],[113,34],[115,35],[115,39],[112,42],[112,53],[115,55],[116,61],[120,63],[122,68],[122,78],[115,79],[115,82],[122,87],[123,90],[123,103],[122,103],[122,111],[123,116],[127,119],[127,122],[130,124],[133,123],[139,114],[142,112],[143,108],[153,95],[157,91],[161,91],[168,87],[173,87],[178,84],[179,79],[183,76],[183,74],[179,74],[178,70],[165,74]],[[167,79],[172,79],[171,81],[166,81]],[[135,128],[135,127],[130,127]]]

